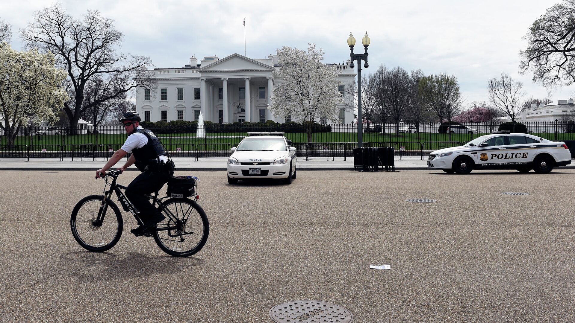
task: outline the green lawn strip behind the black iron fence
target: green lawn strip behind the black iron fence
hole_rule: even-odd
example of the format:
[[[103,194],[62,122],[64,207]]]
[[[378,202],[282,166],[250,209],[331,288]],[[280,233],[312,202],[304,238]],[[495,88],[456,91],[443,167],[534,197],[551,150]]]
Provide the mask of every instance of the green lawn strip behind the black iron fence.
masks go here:
[[[534,133],[535,134],[535,133]],[[247,133],[209,133],[205,138],[197,138],[195,133],[175,133],[175,134],[158,134],[164,145],[173,144],[231,144],[235,145],[240,142],[241,138]],[[451,134],[451,138],[446,133],[401,133],[382,134],[382,133],[363,133],[363,142],[419,142],[424,141],[459,141],[465,143],[482,134]],[[549,140],[555,140],[553,133],[537,133],[536,136]],[[293,143],[306,143],[307,136],[305,133],[286,133],[287,139]],[[229,137],[229,138],[226,138]],[[76,136],[46,135],[46,136],[18,136],[15,145],[66,145],[65,150],[71,150],[71,146],[78,144],[101,144],[101,145],[121,145],[126,139],[125,134],[78,134]],[[559,133],[557,140],[575,140],[575,133]],[[344,132],[324,132],[313,133],[312,142],[315,143],[355,143],[357,142],[357,133]],[[6,145],[6,136],[0,136],[0,145]],[[115,147],[114,147],[115,148]],[[173,148],[173,147],[172,147]],[[78,148],[74,148],[78,150]]]

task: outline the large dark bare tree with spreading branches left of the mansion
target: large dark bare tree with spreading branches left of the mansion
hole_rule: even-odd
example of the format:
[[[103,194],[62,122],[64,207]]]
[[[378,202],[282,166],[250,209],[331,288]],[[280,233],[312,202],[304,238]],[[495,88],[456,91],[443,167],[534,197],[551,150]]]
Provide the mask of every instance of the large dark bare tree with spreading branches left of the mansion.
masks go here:
[[[124,35],[113,21],[88,10],[76,20],[59,5],[34,14],[34,21],[21,30],[28,47],[41,47],[56,55],[57,64],[67,71],[73,97],[64,104],[70,120],[70,134],[76,134],[81,114],[91,106],[124,95],[137,87],[153,88],[154,72],[149,57],[118,53]],[[85,104],[85,90],[91,80],[102,76],[114,80],[114,90]]]

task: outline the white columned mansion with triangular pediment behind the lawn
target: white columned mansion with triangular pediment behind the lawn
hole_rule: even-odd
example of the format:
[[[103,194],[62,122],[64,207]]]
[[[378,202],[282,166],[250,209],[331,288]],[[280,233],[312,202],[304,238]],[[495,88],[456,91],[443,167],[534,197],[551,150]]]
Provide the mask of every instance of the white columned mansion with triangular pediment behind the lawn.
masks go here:
[[[340,70],[345,87],[354,83],[355,70],[348,64],[328,64]],[[136,111],[145,121],[198,120],[200,111],[204,120],[232,123],[284,120],[273,116],[267,109],[276,82],[277,56],[251,59],[234,53],[218,59],[205,56],[198,64],[196,57],[181,68],[155,68],[156,89],[138,89]],[[338,105],[339,120],[327,122],[351,123],[354,121],[352,98],[345,95],[347,103]]]

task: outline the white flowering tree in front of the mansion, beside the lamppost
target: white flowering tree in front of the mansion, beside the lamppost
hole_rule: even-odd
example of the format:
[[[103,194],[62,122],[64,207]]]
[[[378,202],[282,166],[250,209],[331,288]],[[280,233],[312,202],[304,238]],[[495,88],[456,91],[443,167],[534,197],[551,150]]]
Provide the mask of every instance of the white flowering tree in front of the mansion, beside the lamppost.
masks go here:
[[[339,118],[337,105],[343,103],[344,98],[338,91],[342,84],[339,71],[321,62],[324,56],[321,48],[308,45],[307,51],[290,47],[278,49],[281,68],[275,72],[278,84],[269,109],[274,116],[306,122],[310,142],[313,122]]]

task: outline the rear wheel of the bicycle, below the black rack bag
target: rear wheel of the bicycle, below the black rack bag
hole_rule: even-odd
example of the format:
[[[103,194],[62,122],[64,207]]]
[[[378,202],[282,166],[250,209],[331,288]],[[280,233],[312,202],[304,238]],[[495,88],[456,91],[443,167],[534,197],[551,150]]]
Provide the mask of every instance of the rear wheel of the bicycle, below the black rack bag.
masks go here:
[[[158,223],[154,240],[168,255],[188,257],[200,251],[208,240],[208,217],[198,203],[171,198],[162,203],[166,219]]]

